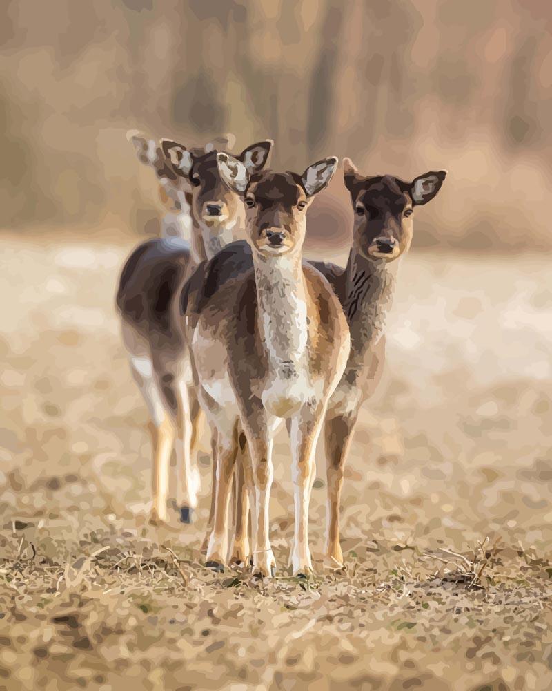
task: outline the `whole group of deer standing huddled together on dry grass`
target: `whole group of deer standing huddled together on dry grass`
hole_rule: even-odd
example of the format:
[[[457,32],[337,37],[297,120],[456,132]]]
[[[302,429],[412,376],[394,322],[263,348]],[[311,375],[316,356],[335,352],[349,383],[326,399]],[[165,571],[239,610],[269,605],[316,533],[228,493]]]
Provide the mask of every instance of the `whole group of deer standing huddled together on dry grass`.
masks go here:
[[[393,260],[411,244],[413,211],[433,199],[446,172],[404,182],[365,177],[344,159],[355,221],[342,269],[302,259],[306,210],[330,182],[337,158],[318,161],[302,174],[277,173],[264,169],[270,140],[235,155],[228,153],[229,135],[202,149],[170,140],[158,144],[139,133],[129,138],[139,160],[155,170],[161,198],[171,207],[161,238],[142,243],[128,258],[117,292],[132,374],[157,430],[152,520],[168,521],[174,448],[177,505],[181,520],[190,521],[205,413],[213,453],[206,565],[221,571],[229,562],[241,563],[253,574],[273,576],[273,439],[285,420],[295,500],[293,574],[312,571],[308,506],[321,430],[327,456],[325,556],[342,567],[344,464],[359,409],[382,371]]]

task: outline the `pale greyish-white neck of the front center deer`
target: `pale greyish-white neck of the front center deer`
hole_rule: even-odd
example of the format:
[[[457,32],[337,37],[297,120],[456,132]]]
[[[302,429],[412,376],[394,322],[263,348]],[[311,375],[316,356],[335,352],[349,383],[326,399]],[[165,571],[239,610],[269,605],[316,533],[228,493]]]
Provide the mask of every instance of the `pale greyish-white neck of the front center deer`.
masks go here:
[[[297,374],[308,340],[308,295],[301,252],[264,258],[253,253],[257,328],[273,368]]]

